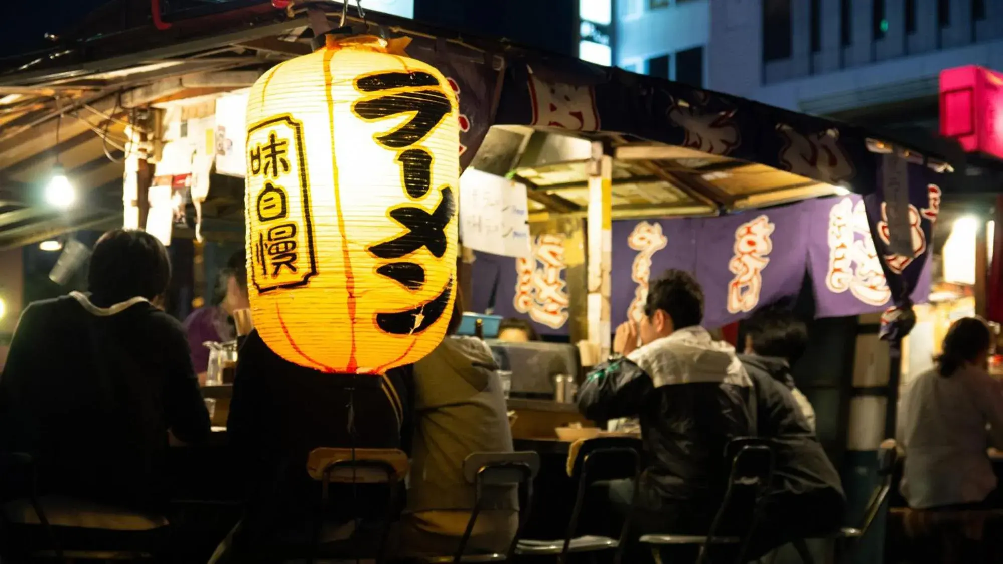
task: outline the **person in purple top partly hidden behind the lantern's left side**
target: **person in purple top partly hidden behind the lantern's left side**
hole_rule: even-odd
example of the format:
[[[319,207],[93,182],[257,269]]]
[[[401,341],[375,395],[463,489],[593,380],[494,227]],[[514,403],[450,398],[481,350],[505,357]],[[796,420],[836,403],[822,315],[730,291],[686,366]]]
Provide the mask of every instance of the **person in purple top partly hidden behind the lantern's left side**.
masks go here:
[[[200,308],[185,320],[192,364],[204,381],[209,370],[209,349],[204,343],[226,343],[237,339],[234,312],[251,307],[248,298],[248,272],[245,251],[239,250],[227,260],[227,266],[217,278],[213,302]]]

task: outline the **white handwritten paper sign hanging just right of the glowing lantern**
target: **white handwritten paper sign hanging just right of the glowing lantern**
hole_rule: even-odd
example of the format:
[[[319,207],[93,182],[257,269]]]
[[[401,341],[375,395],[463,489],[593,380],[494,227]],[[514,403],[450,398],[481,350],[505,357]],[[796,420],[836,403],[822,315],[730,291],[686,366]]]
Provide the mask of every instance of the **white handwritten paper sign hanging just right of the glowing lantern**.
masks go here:
[[[504,256],[529,256],[526,185],[467,168],[459,178],[459,237],[463,246]]]

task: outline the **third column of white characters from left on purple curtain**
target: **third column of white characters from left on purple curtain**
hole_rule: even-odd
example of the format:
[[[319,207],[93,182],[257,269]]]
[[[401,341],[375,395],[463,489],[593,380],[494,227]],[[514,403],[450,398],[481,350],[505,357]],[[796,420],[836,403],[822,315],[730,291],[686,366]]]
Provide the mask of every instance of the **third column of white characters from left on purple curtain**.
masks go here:
[[[762,270],[769,263],[773,241],[769,235],[775,226],[766,215],[746,221],[735,229],[734,255],[728,269],[735,274],[728,284],[729,314],[751,312],[759,304]]]

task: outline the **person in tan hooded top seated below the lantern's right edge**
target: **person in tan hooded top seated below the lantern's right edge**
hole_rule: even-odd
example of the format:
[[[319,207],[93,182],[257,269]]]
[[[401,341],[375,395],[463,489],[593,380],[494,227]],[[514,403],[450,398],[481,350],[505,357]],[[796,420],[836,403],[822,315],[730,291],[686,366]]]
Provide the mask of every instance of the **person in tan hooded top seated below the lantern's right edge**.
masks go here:
[[[470,453],[513,450],[490,349],[479,339],[448,337],[462,319],[459,298],[445,340],[414,365],[413,463],[401,538],[407,554],[453,554],[474,504],[463,460]],[[478,514],[467,549],[505,552],[519,524],[516,492],[485,491],[495,499],[490,511]]]

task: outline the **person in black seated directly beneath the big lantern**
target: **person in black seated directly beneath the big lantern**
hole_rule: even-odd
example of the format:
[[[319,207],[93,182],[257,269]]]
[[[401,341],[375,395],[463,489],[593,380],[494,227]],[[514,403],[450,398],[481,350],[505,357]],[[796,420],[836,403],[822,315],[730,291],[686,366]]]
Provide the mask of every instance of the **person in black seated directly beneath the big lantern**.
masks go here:
[[[401,448],[402,428],[410,421],[410,368],[384,376],[327,374],[282,359],[257,331],[238,359],[227,433],[248,493],[232,556],[235,562],[268,561],[269,549],[286,537],[289,544],[309,541],[305,524],[321,499],[319,483],[306,471],[312,450]],[[409,428],[403,432],[410,434]],[[346,488],[346,503],[332,505],[361,508],[359,517],[385,515],[385,499],[370,498],[364,485]],[[334,489],[332,499],[338,499]],[[329,517],[346,522],[355,515]]]

